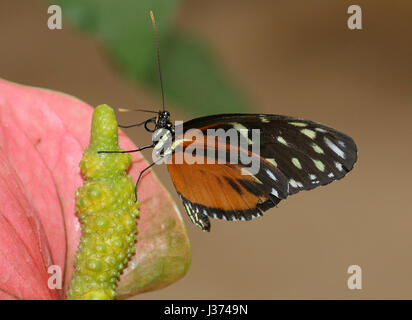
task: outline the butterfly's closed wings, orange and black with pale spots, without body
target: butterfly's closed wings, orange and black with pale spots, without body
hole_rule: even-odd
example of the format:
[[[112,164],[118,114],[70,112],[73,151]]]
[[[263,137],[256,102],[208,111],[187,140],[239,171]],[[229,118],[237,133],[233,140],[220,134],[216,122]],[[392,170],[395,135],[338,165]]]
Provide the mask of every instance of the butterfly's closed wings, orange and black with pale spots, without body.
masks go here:
[[[236,191],[239,185],[235,187],[226,179],[227,183],[218,188],[216,178],[212,177],[228,177],[238,183],[241,177],[245,177],[239,176],[242,164],[232,166],[230,170],[222,164],[209,169],[207,167],[211,166],[210,164],[185,164],[174,167],[169,165],[172,180],[192,220],[193,217],[203,217],[202,221],[206,221],[206,214],[213,218],[226,219],[251,217],[242,212],[260,215],[261,211],[274,206],[288,194],[310,190],[343,178],[357,160],[357,148],[352,138],[331,127],[301,118],[269,114],[221,114],[185,122],[183,132],[189,129],[199,129],[204,135],[208,134],[209,129],[236,129],[240,136],[244,136],[245,131],[241,131],[247,129],[250,143],[248,150],[242,152],[249,155],[252,153],[253,143],[251,131],[258,129],[260,153],[253,156],[260,157],[261,165],[259,172],[251,175],[251,179],[254,182],[265,181],[264,186],[261,186],[253,184],[250,180],[248,183],[251,184],[244,189],[241,186],[242,193],[239,193]],[[209,146],[213,147],[215,146]],[[233,145],[228,148],[239,146]],[[222,166],[226,169],[221,169]],[[196,186],[198,190],[190,191]],[[215,202],[212,201],[213,197],[216,197],[212,195],[213,192],[221,194],[218,200],[213,200]],[[278,197],[274,196],[274,192],[278,193]],[[233,199],[240,202],[238,198],[253,193],[259,194],[259,197],[248,198],[244,207],[234,205]]]

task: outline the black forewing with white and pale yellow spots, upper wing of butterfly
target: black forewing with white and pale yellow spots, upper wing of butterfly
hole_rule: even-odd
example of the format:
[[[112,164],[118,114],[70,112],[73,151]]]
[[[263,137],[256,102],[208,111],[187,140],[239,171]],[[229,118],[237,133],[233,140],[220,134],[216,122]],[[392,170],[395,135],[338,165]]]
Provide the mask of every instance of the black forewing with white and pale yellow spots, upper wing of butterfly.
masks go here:
[[[200,129],[260,130],[260,156],[276,166],[289,182],[288,193],[310,190],[343,178],[357,160],[352,138],[326,125],[270,114],[221,114],[183,124]],[[263,169],[261,169],[262,171]],[[265,172],[260,172],[265,174]],[[276,186],[276,181],[273,181]]]

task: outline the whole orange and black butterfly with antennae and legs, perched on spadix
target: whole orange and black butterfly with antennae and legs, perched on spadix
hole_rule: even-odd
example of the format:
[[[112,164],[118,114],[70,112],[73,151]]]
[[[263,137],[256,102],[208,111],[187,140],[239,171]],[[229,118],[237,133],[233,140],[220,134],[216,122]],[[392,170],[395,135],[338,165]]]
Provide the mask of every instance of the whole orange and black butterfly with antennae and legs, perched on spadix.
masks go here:
[[[155,29],[152,13],[151,17]],[[157,57],[159,59],[158,51]],[[160,63],[158,67],[161,80]],[[144,125],[154,134],[159,130],[169,133],[173,143],[159,159],[166,156],[171,159],[167,166],[176,191],[192,222],[204,231],[210,231],[209,218],[251,220],[262,216],[264,211],[289,195],[343,178],[357,160],[357,147],[351,137],[329,126],[296,117],[241,113],[210,115],[184,122],[177,132],[170,113],[164,109],[163,94],[162,98],[163,110],[140,110],[156,113],[156,116],[120,127]],[[217,132],[219,129],[237,132],[237,143],[227,141],[226,136],[211,141],[193,136],[186,138],[190,130],[195,130],[199,138],[200,135],[210,137],[210,130]],[[257,151],[252,139],[254,130],[259,133]],[[150,145],[124,152],[161,149],[164,144],[164,140],[158,139]],[[231,151],[254,160],[258,170],[252,172],[250,166],[239,161],[232,163],[228,158]],[[202,161],[176,161],[194,154]],[[140,172],[136,190],[143,173],[155,164],[156,161]]]

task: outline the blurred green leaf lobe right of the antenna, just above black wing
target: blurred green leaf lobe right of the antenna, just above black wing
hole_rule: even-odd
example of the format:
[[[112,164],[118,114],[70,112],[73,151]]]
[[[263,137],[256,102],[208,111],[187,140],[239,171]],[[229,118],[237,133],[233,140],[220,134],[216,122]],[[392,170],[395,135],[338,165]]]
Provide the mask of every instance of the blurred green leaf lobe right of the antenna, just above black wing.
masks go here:
[[[232,85],[201,43],[179,33],[168,37],[162,46],[162,73],[165,95],[190,111],[203,114],[244,112],[244,97]],[[147,79],[148,84],[159,84],[157,73]]]

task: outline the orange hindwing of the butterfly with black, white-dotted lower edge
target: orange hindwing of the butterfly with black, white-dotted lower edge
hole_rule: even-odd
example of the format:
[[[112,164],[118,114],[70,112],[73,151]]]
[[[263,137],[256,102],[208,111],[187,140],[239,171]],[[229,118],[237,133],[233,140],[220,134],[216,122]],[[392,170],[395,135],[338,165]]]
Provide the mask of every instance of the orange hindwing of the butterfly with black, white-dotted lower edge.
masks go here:
[[[257,155],[252,156],[261,162],[261,170],[245,174],[242,169],[247,168],[241,164],[206,164],[207,159],[203,164],[176,163],[179,153],[186,150],[188,148],[173,154],[168,169],[187,214],[202,230],[210,231],[208,217],[251,220],[288,195],[286,177]]]

